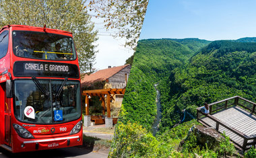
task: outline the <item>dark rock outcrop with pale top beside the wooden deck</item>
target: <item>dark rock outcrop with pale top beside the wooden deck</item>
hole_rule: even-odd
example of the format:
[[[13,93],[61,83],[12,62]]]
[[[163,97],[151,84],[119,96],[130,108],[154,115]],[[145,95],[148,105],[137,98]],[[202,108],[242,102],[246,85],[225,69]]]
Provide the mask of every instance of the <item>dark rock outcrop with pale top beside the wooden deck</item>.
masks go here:
[[[197,145],[205,146],[207,144],[208,149],[214,149],[220,143],[222,136],[212,127],[206,128],[201,125],[193,126],[189,129],[187,138],[181,141],[180,147],[189,139],[189,136],[195,135],[197,139]]]

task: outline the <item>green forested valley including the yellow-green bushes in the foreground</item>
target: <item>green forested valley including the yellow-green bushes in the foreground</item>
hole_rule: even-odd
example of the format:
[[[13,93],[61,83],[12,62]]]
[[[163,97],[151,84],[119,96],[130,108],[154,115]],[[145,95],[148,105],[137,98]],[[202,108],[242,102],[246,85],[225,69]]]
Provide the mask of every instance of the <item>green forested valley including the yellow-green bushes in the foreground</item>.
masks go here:
[[[195,140],[189,140],[181,151],[178,146],[189,128],[199,124],[193,118],[204,102],[234,95],[256,102],[255,67],[256,38],[139,40],[110,155],[117,151],[142,157],[193,157],[191,152],[205,157],[222,155],[220,149],[197,147]],[[156,136],[151,133],[156,118],[154,84],[158,84],[162,112]],[[190,115],[183,119],[184,110]],[[132,134],[138,134],[139,141]],[[122,146],[122,136],[131,136],[137,144]],[[228,141],[225,145],[232,146]]]

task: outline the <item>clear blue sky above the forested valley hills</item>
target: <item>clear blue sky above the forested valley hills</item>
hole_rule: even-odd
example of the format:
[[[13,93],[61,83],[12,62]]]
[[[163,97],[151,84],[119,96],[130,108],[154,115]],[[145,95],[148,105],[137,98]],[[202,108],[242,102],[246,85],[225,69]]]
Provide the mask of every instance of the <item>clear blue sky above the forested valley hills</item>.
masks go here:
[[[255,0],[150,0],[141,39],[256,37]]]

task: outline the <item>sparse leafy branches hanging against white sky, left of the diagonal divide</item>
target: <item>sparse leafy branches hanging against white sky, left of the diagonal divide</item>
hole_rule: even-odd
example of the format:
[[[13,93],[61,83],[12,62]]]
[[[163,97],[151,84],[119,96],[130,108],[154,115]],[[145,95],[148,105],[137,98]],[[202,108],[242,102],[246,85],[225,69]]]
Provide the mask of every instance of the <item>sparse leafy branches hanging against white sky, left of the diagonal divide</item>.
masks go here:
[[[114,37],[126,38],[125,46],[135,50],[146,14],[148,0],[92,0],[88,3],[96,17],[104,18],[106,30],[114,30]]]

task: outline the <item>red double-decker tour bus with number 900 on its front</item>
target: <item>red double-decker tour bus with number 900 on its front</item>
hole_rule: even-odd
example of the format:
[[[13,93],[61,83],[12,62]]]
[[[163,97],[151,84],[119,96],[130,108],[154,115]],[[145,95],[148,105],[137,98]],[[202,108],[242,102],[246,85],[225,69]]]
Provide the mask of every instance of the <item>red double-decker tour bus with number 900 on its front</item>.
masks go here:
[[[70,32],[0,30],[0,145],[13,153],[82,145],[79,65]]]

